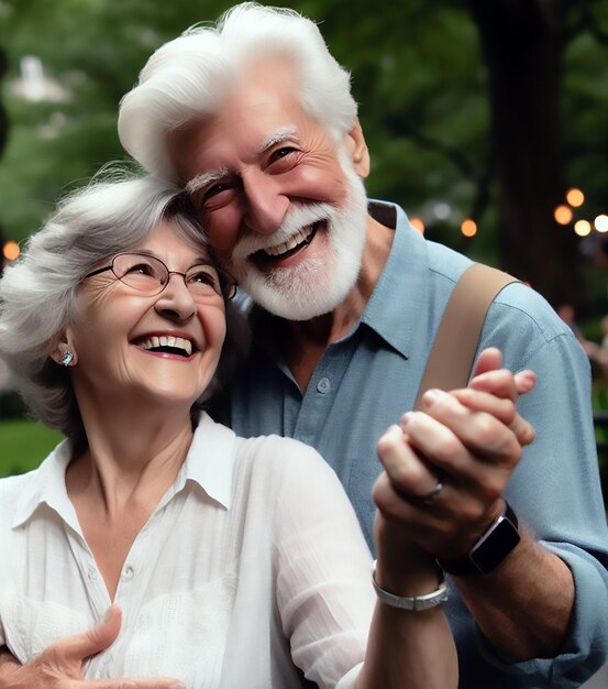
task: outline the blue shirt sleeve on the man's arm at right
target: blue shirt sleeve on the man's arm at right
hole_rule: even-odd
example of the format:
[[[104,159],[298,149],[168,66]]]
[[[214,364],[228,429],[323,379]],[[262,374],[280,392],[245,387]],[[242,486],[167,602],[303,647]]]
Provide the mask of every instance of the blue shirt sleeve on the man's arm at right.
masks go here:
[[[528,368],[538,374],[534,391],[519,402],[519,412],[533,425],[537,437],[524,449],[507,499],[535,538],[571,569],[575,605],[567,638],[553,659],[510,663],[483,641],[482,649],[486,660],[502,671],[540,682],[521,686],[551,683],[568,689],[578,687],[607,659],[608,529],[593,427],[589,362],[572,332],[548,311],[529,319],[528,325],[522,326],[520,319],[516,331],[521,344],[501,348],[506,368]],[[513,326],[504,320],[504,327]]]

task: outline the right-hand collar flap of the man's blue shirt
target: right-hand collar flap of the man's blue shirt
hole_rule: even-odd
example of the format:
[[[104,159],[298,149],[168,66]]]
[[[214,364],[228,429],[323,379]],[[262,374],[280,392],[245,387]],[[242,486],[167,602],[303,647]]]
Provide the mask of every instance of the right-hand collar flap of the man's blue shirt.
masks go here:
[[[404,357],[409,358],[417,332],[425,331],[425,324],[421,324],[420,318],[429,317],[428,309],[423,307],[429,297],[425,240],[411,227],[402,208],[395,204],[373,200],[369,203],[369,215],[383,225],[395,228],[395,238],[361,319]]]

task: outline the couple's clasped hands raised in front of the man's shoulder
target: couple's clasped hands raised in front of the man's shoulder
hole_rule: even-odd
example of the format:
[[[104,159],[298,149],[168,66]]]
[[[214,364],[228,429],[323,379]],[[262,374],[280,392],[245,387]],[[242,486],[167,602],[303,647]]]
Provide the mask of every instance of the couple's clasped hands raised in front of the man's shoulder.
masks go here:
[[[421,411],[406,414],[378,442],[385,472],[374,500],[380,522],[407,526],[407,537],[439,559],[467,553],[501,514],[521,448],[534,438],[516,402],[535,376],[513,375],[500,363],[498,350],[486,350],[467,389],[429,391]],[[425,502],[438,482],[443,488]]]

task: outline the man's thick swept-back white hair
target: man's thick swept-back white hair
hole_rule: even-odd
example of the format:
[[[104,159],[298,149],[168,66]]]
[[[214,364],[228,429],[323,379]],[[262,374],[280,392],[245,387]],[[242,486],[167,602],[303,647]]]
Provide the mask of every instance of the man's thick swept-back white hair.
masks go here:
[[[177,176],[168,133],[219,111],[236,77],[253,62],[291,66],[303,110],[336,141],[351,131],[356,103],[350,74],[332,57],[317,25],[295,10],[243,2],[214,26],[194,26],[159,47],[119,112],[124,149],[145,169]]]

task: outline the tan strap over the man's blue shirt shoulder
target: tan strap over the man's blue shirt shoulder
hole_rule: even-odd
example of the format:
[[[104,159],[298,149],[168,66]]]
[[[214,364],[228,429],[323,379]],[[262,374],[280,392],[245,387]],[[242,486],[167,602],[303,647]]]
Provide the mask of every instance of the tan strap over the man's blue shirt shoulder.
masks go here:
[[[482,263],[473,263],[462,274],[439,324],[414,409],[431,387],[466,386],[489,305],[502,287],[512,282],[518,282],[512,275]]]

